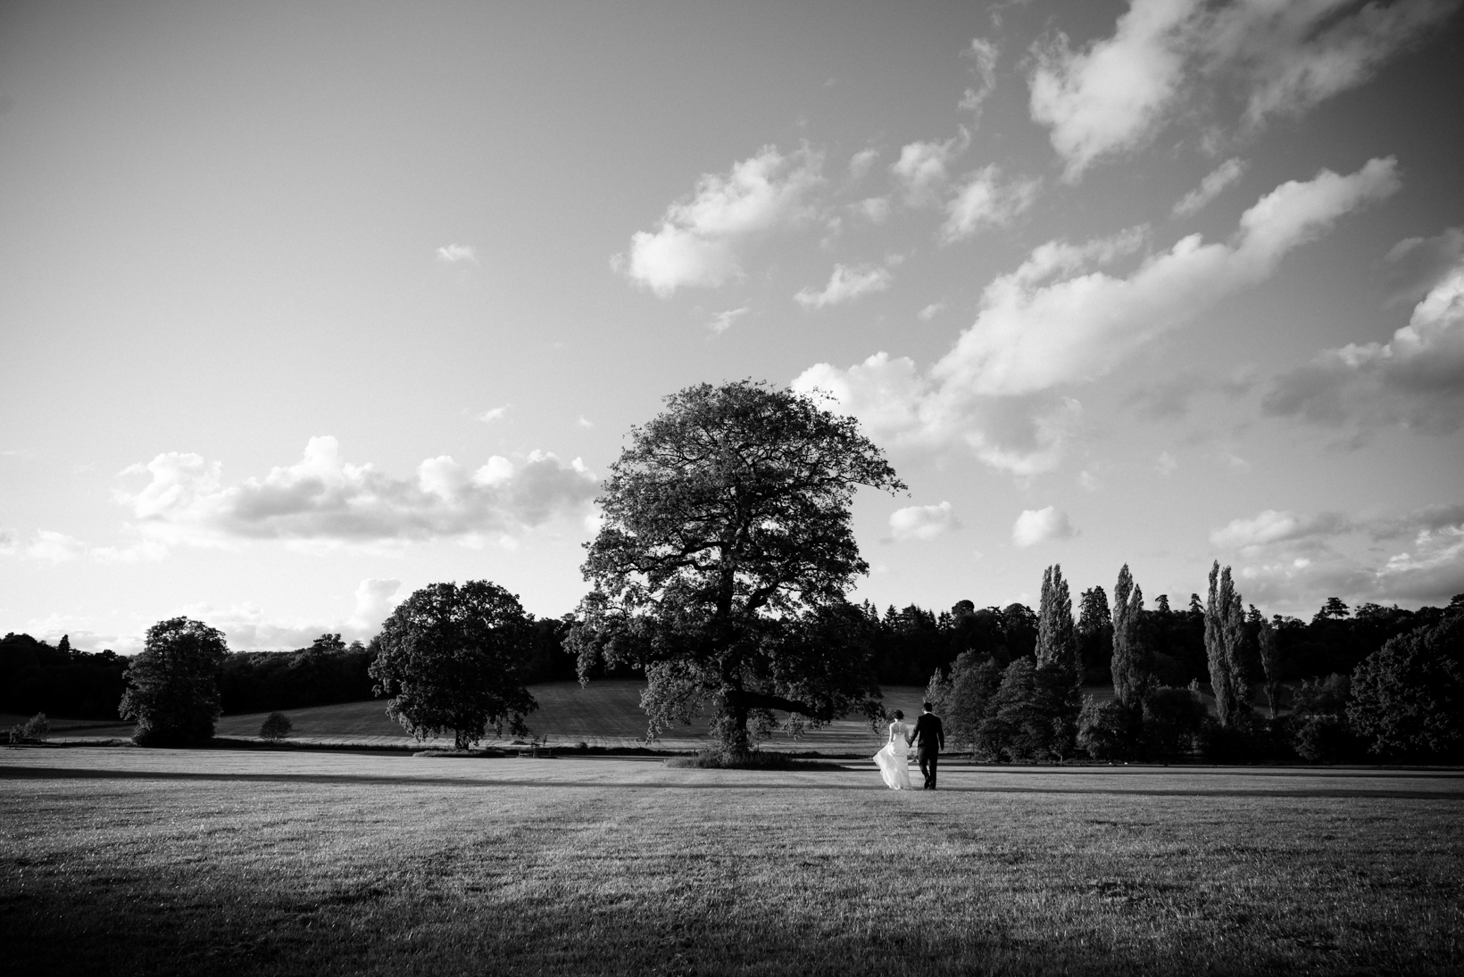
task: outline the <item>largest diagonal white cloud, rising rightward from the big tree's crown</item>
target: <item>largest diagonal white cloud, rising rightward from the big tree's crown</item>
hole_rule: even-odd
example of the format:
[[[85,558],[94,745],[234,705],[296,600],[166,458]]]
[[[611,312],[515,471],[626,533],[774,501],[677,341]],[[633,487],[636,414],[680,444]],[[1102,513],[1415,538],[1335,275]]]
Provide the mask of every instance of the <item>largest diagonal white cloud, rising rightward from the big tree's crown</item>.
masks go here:
[[[889,443],[930,450],[965,443],[998,469],[1048,471],[1082,414],[1067,388],[1107,374],[1145,344],[1266,279],[1293,249],[1397,186],[1392,159],[1350,176],[1323,170],[1261,197],[1230,241],[1187,235],[1127,276],[1099,269],[1138,250],[1143,228],[1082,244],[1048,241],[985,287],[975,322],[928,371],[878,352],[848,369],[818,363],[793,388],[827,391]]]

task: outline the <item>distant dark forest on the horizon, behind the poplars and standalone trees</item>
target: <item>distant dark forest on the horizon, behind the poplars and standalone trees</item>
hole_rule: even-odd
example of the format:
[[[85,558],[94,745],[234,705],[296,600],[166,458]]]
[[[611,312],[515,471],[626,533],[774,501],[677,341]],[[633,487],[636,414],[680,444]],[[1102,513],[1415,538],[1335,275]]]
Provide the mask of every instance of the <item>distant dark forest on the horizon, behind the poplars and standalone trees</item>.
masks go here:
[[[934,673],[949,671],[956,657],[966,651],[991,655],[1004,667],[1032,657],[1037,646],[1037,614],[1025,604],[978,608],[971,601],[960,601],[943,611],[911,604],[903,610],[892,606],[883,614],[870,603],[859,608],[867,622],[864,639],[881,684],[924,686]],[[1085,591],[1076,611],[1083,679],[1088,684],[1108,683],[1113,619],[1104,589]],[[1281,657],[1281,679],[1296,684],[1351,674],[1389,638],[1438,623],[1444,614],[1438,607],[1408,611],[1362,604],[1354,610],[1334,597],[1309,622],[1275,616],[1271,623]],[[1244,665],[1246,677],[1258,687],[1263,680],[1258,645],[1261,622],[1261,613],[1250,607]],[[531,625],[529,682],[572,680],[575,660],[564,649],[569,617],[536,619]],[[1209,683],[1199,595],[1192,594],[1183,608],[1171,608],[1161,595],[1154,610],[1142,611],[1139,633],[1154,654],[1154,671],[1162,684]],[[373,682],[366,670],[373,658],[370,645],[347,645],[340,635],[322,635],[309,648],[296,651],[234,652],[220,673],[224,712],[268,712],[370,699]],[[50,645],[29,635],[9,633],[0,639],[0,711],[116,720],[127,665],[129,660],[113,651],[76,651],[64,636]]]

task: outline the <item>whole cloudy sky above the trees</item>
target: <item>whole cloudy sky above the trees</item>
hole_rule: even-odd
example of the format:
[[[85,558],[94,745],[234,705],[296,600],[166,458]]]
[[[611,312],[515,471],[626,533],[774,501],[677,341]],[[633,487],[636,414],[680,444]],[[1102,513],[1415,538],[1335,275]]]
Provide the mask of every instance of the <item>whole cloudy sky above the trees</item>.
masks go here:
[[[859,418],[854,600],[1464,592],[1460,0],[0,4],[0,633],[586,592],[627,433]]]

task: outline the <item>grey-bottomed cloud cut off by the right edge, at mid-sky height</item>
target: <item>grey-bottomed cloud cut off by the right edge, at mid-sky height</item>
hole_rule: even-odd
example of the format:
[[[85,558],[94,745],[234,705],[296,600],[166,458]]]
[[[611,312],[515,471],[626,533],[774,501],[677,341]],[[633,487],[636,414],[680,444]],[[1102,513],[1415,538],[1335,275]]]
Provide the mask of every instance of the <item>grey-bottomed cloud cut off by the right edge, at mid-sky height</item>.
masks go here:
[[[1274,417],[1448,434],[1464,424],[1464,260],[1413,309],[1388,342],[1347,344],[1277,377],[1262,399]]]

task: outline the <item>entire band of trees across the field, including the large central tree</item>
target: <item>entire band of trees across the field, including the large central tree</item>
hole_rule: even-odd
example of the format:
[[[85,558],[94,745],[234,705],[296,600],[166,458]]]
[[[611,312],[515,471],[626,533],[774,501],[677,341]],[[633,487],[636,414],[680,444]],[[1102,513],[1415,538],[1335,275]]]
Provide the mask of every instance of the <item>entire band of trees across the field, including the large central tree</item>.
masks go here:
[[[1265,619],[1217,563],[1206,598],[1183,610],[1167,595],[1148,608],[1127,566],[1111,601],[1094,586],[1075,607],[1054,565],[1035,613],[962,601],[878,614],[848,601],[870,569],[851,503],[859,487],[905,484],[854,418],[751,380],[666,405],[610,467],[581,566],[589,592],[564,619],[537,622],[488,581],[433,584],[366,646],[324,635],[290,655],[230,655],[187,619],[151,627],[130,663],[81,663],[29,638],[12,654],[6,639],[0,679],[18,679],[0,687],[95,703],[120,677],[139,743],[211,734],[230,706],[299,708],[369,684],[414,736],[452,733],[466,749],[488,728],[526,730],[527,686],[572,670],[581,683],[641,676],[649,736],[710,709],[716,753],[733,763],[774,730],[881,723],[890,683],[927,684],[950,739],[991,761],[1460,755],[1464,597],[1356,614],[1332,598],[1310,623]],[[1085,696],[1095,680],[1113,695]],[[88,682],[102,692],[79,698]]]

